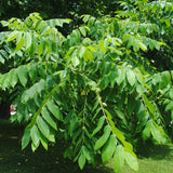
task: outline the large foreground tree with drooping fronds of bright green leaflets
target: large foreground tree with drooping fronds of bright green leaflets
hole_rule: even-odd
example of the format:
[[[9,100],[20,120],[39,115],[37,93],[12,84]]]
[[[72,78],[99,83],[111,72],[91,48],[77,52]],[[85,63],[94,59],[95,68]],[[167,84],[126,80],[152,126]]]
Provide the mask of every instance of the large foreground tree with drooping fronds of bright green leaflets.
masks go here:
[[[162,112],[170,118],[173,112],[173,72],[158,72],[145,57],[161,52],[164,39],[152,37],[157,24],[144,23],[136,12],[123,13],[83,15],[83,24],[67,37],[57,27],[69,19],[43,21],[32,13],[25,21],[2,22],[10,31],[1,32],[8,56],[1,54],[0,62],[10,58],[13,66],[1,72],[0,86],[17,92],[11,119],[27,123],[23,149],[30,142],[34,151],[40,144],[48,149],[59,138],[66,142],[64,157],[81,169],[114,158],[120,172],[124,161],[138,170],[138,141],[167,142]]]

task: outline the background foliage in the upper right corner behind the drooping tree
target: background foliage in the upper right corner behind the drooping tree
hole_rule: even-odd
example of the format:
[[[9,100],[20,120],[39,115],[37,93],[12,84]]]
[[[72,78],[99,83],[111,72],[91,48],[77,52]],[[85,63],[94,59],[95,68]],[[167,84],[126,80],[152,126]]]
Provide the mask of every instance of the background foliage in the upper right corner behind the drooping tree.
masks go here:
[[[173,54],[172,48],[172,17],[173,17],[173,4],[170,1],[121,1],[125,11],[119,11],[120,16],[133,16],[133,21],[143,23],[138,29],[143,35],[148,35],[158,41],[164,41],[165,46],[162,46],[162,51],[154,49],[150,43],[151,51],[146,53],[145,56],[157,66],[158,70],[172,70]],[[146,28],[146,25],[148,28]],[[155,26],[155,27],[154,27]],[[136,28],[137,29],[137,28]],[[136,30],[135,29],[135,30]],[[155,32],[157,31],[157,32]],[[148,43],[150,40],[148,41]],[[152,42],[155,44],[155,42]]]

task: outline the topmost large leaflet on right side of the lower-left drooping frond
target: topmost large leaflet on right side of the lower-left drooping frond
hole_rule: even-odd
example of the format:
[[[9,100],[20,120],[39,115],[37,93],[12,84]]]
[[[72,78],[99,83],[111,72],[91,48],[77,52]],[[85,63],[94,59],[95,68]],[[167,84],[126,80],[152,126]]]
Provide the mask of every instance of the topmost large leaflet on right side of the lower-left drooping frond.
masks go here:
[[[62,115],[61,110],[58,109],[58,107],[55,105],[55,103],[52,99],[46,102],[46,106],[48,106],[48,109],[53,114],[53,116],[57,120],[63,121],[63,115]]]

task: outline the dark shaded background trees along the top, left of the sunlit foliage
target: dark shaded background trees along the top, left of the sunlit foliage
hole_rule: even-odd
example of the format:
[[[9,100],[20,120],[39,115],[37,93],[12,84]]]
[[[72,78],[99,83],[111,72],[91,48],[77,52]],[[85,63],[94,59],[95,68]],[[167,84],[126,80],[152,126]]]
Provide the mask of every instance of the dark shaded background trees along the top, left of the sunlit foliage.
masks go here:
[[[117,1],[110,0],[99,0],[99,2],[96,0],[1,0],[0,18],[25,18],[31,12],[39,12],[44,18],[74,18],[75,15],[80,16],[82,14],[99,16],[114,13],[118,6]]]

